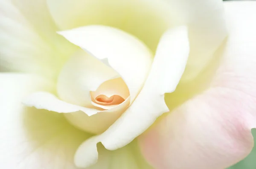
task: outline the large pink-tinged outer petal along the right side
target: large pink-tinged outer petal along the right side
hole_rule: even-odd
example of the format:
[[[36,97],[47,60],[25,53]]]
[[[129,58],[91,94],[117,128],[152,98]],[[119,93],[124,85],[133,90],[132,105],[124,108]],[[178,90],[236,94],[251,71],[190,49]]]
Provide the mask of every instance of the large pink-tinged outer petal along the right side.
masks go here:
[[[155,168],[223,169],[250,153],[256,127],[255,9],[253,1],[225,3],[230,35],[210,88],[140,137]]]

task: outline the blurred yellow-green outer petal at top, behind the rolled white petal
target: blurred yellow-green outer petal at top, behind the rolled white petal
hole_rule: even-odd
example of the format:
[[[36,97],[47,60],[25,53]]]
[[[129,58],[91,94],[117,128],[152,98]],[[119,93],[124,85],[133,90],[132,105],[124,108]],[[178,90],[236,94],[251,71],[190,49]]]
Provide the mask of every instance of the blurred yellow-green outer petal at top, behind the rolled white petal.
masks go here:
[[[117,27],[143,40],[153,52],[167,29],[187,25],[191,52],[184,80],[208,65],[227,36],[222,0],[47,0],[47,4],[62,30],[92,24]]]

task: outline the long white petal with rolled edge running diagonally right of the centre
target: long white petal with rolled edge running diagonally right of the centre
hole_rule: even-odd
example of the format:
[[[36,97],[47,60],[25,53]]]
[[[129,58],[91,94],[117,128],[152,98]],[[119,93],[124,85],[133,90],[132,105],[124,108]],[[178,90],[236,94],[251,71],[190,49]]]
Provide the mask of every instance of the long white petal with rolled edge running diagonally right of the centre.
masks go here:
[[[173,50],[165,48],[166,43],[172,45]],[[96,151],[97,143],[101,142],[109,150],[119,149],[144,132],[154,123],[157,117],[169,111],[164,101],[163,92],[173,91],[176,88],[175,84],[180,80],[177,78],[177,74],[180,77],[183,74],[189,55],[189,41],[186,27],[177,27],[166,32],[161,39],[158,49],[148,79],[140,94],[134,100],[134,103],[131,104],[124,114],[106,132],[102,135],[91,137],[81,144],[75,156],[77,166],[87,167],[96,163],[98,159],[98,152]],[[170,55],[166,54],[166,52]],[[169,64],[164,64],[166,62]],[[159,76],[159,74],[165,73],[166,66],[173,66],[172,69],[174,72],[168,74],[167,77]],[[163,81],[163,78],[173,79],[173,81],[169,81],[169,88],[159,83]]]

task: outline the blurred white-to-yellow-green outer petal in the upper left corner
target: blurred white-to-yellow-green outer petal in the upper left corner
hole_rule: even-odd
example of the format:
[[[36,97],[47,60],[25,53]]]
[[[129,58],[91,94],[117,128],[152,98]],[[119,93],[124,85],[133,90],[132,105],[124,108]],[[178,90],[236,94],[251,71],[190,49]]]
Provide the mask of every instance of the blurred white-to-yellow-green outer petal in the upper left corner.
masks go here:
[[[56,30],[45,0],[1,0],[0,70],[56,78],[76,49]]]

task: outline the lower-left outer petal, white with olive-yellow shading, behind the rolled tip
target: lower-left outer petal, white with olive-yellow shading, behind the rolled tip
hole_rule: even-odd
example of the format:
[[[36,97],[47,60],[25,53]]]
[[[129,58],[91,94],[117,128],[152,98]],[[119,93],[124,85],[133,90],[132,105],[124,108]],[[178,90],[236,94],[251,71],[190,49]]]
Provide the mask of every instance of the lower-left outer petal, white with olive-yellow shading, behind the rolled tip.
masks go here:
[[[90,135],[75,129],[61,114],[21,103],[29,93],[51,90],[52,84],[34,75],[3,73],[0,82],[0,168],[79,169],[74,153]],[[98,163],[87,169],[150,169],[136,142],[119,151],[100,145],[98,150]]]

